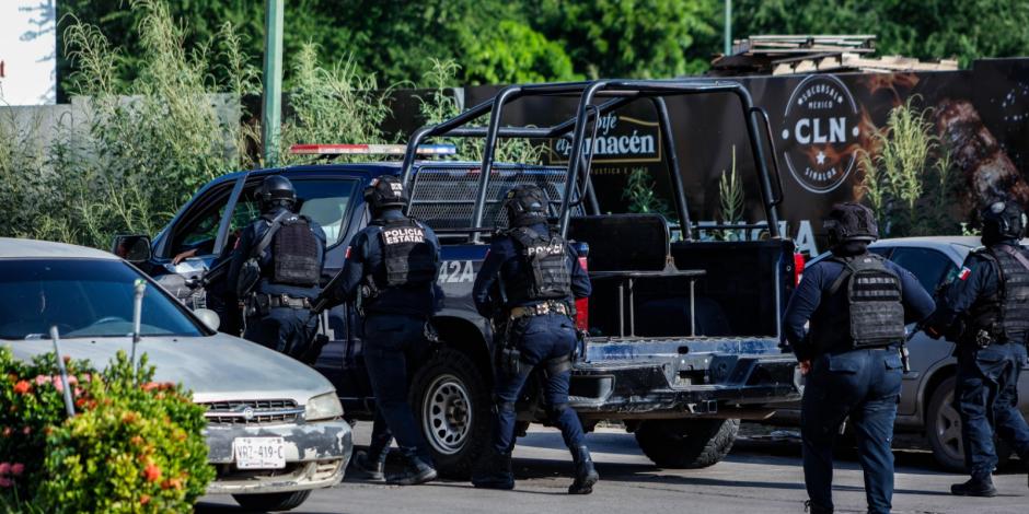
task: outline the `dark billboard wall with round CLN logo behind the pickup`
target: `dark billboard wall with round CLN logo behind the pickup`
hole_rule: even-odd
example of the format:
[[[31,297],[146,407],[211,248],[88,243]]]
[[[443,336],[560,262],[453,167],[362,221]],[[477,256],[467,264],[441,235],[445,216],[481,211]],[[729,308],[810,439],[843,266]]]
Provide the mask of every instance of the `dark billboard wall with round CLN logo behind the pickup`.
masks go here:
[[[726,79],[703,79],[726,80]],[[930,135],[953,163],[940,209],[964,220],[980,205],[1009,197],[1029,205],[1024,174],[1029,166],[1029,59],[987,59],[971,69],[895,73],[745,77],[736,80],[770,117],[785,201],[785,233],[812,254],[824,249],[821,219],[840,201],[864,200],[862,152],[876,155],[890,112],[909,101],[926,113]],[[497,87],[465,90],[465,105],[492,97]],[[735,168],[742,180],[741,222],[764,221],[754,159],[740,103],[728,94],[667,98],[672,139],[691,219],[721,219],[719,180]],[[502,125],[544,126],[575,113],[576,101],[522,100],[506,107]],[[627,190],[640,173],[660,205],[671,205],[654,108],[637,101],[605,117],[590,133],[592,179],[601,210],[624,212]],[[551,142],[551,163],[567,163],[568,144]],[[930,166],[930,157],[926,166]],[[928,186],[926,188],[928,189]],[[952,223],[957,232],[957,221]],[[752,236],[756,234],[741,234]]]

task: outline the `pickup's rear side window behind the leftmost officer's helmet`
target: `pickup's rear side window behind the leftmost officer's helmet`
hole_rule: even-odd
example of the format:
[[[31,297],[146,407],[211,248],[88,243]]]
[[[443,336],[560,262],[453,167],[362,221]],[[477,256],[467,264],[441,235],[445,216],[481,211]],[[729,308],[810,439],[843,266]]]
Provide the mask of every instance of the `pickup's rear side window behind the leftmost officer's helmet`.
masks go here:
[[[354,197],[357,180],[352,179],[291,179],[300,200],[300,213],[322,225],[327,247],[339,244],[346,234],[346,213]],[[235,205],[230,231],[234,234],[243,230],[261,215],[255,191],[261,182],[248,185]]]

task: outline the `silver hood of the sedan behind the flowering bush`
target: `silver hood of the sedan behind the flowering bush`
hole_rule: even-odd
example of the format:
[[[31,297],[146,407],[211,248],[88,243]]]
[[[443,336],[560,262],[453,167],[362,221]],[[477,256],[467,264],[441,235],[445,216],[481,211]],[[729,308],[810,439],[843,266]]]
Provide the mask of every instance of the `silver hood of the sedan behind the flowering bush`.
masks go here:
[[[18,359],[53,352],[49,339],[2,341]],[[131,338],[62,339],[61,353],[106,366],[118,350],[131,353]],[[157,366],[154,379],[181,383],[194,401],[291,399],[307,404],[312,396],[333,390],[313,369],[261,344],[217,334],[209,337],[146,337],[137,347]]]

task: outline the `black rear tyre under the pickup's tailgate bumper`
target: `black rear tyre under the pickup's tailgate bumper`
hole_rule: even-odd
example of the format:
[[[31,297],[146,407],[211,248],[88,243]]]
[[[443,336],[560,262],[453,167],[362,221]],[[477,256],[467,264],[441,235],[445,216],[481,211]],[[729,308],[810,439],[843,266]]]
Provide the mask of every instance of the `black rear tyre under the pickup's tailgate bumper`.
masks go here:
[[[714,466],[732,449],[740,420],[647,420],[636,430],[644,454],[662,468]]]

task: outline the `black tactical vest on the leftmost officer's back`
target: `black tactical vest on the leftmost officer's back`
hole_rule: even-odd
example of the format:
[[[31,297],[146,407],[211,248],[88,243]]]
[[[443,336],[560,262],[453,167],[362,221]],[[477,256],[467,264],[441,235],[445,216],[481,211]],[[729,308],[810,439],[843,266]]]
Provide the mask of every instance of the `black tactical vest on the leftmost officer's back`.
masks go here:
[[[319,241],[307,217],[291,215],[282,221],[271,240],[271,283],[301,288],[319,284]]]

